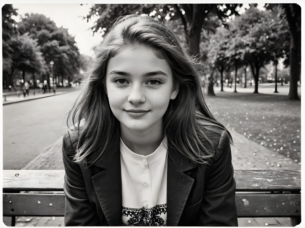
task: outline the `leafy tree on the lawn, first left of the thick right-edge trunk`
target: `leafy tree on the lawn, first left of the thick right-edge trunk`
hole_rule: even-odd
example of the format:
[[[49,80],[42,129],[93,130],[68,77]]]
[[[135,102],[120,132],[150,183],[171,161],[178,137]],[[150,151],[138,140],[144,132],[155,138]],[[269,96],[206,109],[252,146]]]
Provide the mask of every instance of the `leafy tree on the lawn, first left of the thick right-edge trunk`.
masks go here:
[[[274,60],[274,52],[278,47],[274,43],[282,42],[275,39],[279,35],[278,26],[278,18],[272,14],[271,10],[260,11],[254,5],[232,22],[232,31],[239,33],[240,36],[241,59],[249,64],[254,76],[254,93],[258,93],[260,68]]]

